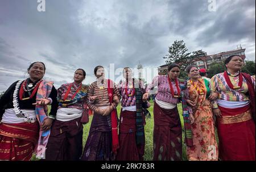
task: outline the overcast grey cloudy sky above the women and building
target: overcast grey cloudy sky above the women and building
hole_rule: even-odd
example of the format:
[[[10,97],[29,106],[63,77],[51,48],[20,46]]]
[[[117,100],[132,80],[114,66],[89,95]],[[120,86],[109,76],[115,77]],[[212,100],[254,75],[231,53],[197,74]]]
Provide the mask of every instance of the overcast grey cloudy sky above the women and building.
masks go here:
[[[97,65],[157,68],[175,40],[208,54],[241,44],[255,60],[254,0],[45,1],[39,12],[37,0],[0,0],[0,91],[28,77],[33,61],[46,64],[55,87],[72,82],[77,68],[84,83]]]

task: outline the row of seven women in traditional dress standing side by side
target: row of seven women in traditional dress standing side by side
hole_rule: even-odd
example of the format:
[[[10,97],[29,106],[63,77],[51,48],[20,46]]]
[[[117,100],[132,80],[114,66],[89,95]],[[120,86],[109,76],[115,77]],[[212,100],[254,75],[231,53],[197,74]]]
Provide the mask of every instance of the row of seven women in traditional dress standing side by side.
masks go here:
[[[34,151],[45,160],[143,160],[143,108],[154,87],[153,160],[182,160],[180,102],[188,160],[255,160],[255,78],[240,72],[242,64],[240,56],[226,58],[226,71],[210,85],[196,66],[187,68],[185,81],[178,79],[180,66],[171,64],[167,75],[156,76],[146,88],[130,68],[115,84],[96,66],[97,81],[89,87],[82,85],[85,71],[77,69],[74,82],[56,90],[42,79],[45,65],[34,62],[30,77],[13,83],[0,99],[0,160],[30,160]],[[81,119],[88,108],[93,119],[82,152]]]

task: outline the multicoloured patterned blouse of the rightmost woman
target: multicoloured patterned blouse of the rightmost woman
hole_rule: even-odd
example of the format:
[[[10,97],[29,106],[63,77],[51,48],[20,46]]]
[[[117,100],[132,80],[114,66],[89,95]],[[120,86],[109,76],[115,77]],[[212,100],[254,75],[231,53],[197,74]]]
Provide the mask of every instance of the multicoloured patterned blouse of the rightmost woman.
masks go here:
[[[234,86],[238,85],[239,82],[239,73],[237,74],[230,74],[228,72],[230,81]],[[254,89],[255,89],[255,78],[251,77],[251,81],[253,81]],[[227,101],[233,101],[233,102],[242,102],[249,100],[249,96],[246,95],[248,91],[248,86],[246,83],[245,78],[243,78],[242,87],[237,90],[230,89],[228,86],[228,83],[226,82],[224,78],[224,73],[216,74],[210,79],[210,91],[217,92],[218,99],[221,100],[227,100]],[[217,108],[217,102],[214,101],[214,108]]]

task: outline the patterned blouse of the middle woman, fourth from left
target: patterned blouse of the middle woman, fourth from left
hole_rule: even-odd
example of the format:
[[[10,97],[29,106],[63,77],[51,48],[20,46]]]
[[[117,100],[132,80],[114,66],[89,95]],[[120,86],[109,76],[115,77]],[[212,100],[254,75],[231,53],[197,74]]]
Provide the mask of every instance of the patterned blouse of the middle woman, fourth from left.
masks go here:
[[[138,79],[134,79],[134,86],[137,87],[138,85],[141,87],[142,90],[142,94],[144,94],[146,92],[146,89],[143,85],[142,81],[138,82]],[[128,86],[127,88],[127,94],[134,94],[133,96],[128,96],[126,95],[126,81],[123,80],[121,83],[118,84],[118,90],[119,90],[119,94],[122,96],[122,107],[128,107],[128,106],[136,106],[136,94],[133,93],[135,90],[133,88],[130,88]]]

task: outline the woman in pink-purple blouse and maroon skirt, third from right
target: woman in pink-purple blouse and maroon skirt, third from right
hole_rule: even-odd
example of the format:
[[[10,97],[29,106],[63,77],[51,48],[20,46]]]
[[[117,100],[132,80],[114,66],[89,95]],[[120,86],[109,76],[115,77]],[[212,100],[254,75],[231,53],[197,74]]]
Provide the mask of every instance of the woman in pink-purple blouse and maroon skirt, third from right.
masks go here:
[[[168,66],[168,75],[156,76],[147,86],[143,99],[158,87],[154,102],[154,158],[155,161],[182,160],[182,129],[177,103],[180,102],[180,66]]]

